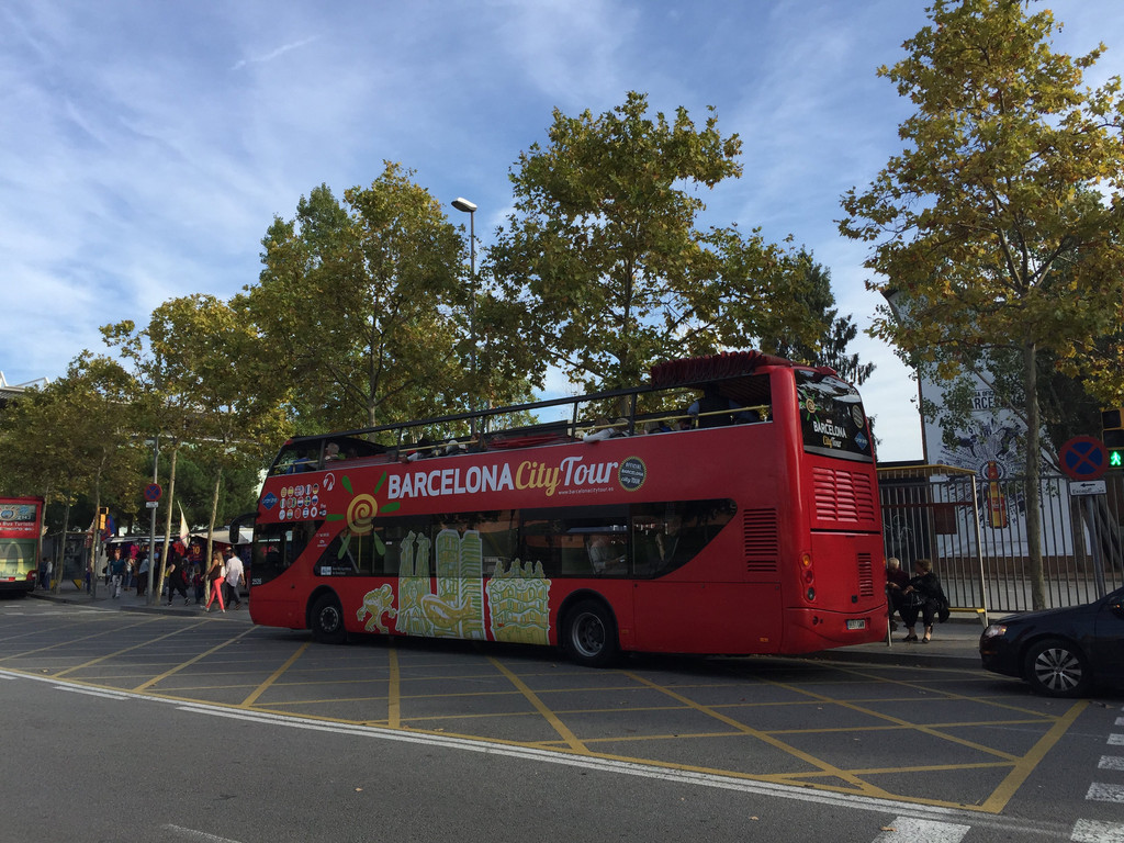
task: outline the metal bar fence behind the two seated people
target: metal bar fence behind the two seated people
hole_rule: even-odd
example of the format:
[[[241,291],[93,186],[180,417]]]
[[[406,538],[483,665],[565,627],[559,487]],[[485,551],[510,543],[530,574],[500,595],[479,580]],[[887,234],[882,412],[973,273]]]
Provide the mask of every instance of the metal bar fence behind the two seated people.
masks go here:
[[[1061,475],[1042,479],[1042,568],[1048,608],[1095,600],[1124,584],[1124,475],[1104,493]],[[1026,541],[1026,484],[968,469],[879,470],[886,555],[910,570],[933,560],[954,610],[1033,608]]]

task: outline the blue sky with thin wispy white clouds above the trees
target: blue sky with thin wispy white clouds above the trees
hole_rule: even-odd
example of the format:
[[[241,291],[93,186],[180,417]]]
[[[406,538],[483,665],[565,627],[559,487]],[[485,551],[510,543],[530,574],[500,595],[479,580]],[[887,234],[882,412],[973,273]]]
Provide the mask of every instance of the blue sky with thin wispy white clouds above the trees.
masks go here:
[[[860,332],[880,303],[840,197],[901,148],[907,100],[876,75],[926,25],[924,0],[7,0],[0,6],[0,372],[57,378],[99,327],[146,325],[171,298],[229,298],[302,196],[337,197],[400,162],[475,202],[478,248],[511,211],[519,153],[554,109],[714,107],[744,174],[705,192],[701,226],[791,236]],[[1053,0],[1054,49],[1108,52],[1120,0]],[[922,454],[917,384],[860,333],[882,461]],[[547,384],[547,397],[564,384]]]

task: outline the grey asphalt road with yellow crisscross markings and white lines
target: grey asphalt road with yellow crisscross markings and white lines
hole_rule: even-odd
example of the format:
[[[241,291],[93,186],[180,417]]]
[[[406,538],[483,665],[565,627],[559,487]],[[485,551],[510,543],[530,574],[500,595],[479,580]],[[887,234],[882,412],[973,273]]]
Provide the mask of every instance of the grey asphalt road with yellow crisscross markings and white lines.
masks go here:
[[[1122,839],[1124,700],[899,661],[591,671],[8,600],[3,783],[28,809],[0,840]]]

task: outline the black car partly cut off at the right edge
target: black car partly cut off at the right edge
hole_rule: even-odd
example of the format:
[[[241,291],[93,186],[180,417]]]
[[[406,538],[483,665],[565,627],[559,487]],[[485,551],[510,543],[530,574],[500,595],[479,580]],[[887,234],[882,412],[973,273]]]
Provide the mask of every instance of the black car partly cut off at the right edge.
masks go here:
[[[985,670],[1025,679],[1050,697],[1124,686],[1124,588],[1085,606],[991,624],[980,636],[980,658]]]

